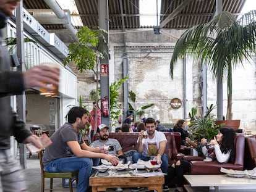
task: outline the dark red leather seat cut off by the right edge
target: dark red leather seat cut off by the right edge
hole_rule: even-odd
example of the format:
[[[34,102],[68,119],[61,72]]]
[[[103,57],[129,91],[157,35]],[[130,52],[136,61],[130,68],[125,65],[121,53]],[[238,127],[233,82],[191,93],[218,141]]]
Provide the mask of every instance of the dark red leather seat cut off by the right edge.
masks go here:
[[[244,169],[256,167],[256,135],[245,136]]]

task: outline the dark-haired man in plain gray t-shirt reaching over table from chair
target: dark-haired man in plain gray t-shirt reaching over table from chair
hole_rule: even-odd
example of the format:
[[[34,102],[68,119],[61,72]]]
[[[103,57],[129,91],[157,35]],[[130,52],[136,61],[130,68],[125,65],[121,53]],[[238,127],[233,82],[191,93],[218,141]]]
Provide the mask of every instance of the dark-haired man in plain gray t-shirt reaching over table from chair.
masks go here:
[[[118,157],[111,156],[108,150],[87,146],[80,134],[85,128],[88,111],[82,107],[72,107],[67,114],[67,123],[62,125],[52,136],[53,144],[45,149],[43,165],[47,172],[79,171],[77,192],[88,191],[89,177],[96,161],[92,158],[103,158],[117,165]],[[96,159],[95,159],[96,160]]]

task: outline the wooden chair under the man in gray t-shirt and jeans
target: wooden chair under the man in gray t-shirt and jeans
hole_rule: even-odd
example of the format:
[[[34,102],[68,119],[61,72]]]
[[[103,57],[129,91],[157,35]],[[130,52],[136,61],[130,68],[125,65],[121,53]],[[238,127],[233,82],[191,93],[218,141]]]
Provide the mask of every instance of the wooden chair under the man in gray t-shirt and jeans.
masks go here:
[[[76,183],[78,183],[78,171],[76,172],[59,172],[50,173],[46,172],[43,167],[43,150],[38,153],[41,167],[41,192],[45,191],[45,178],[50,178],[50,192],[53,191],[53,178],[69,178],[69,191],[73,192],[72,177],[75,177]]]

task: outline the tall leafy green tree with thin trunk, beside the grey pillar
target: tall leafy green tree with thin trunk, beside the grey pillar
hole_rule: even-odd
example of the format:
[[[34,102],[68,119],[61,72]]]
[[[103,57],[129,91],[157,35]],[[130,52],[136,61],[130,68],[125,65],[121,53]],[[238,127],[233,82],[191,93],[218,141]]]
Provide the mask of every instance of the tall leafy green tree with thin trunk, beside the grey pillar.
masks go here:
[[[77,31],[77,39],[74,43],[69,44],[69,54],[64,59],[64,65],[74,62],[76,68],[82,73],[83,70],[92,70],[96,75],[96,89],[98,90],[98,69],[100,59],[108,56],[101,46],[101,42],[106,44],[105,34],[107,32],[100,28],[90,29],[83,27]],[[95,91],[96,92],[96,91]],[[98,101],[98,94],[95,94],[95,102]],[[95,119],[98,118],[97,107],[95,108]],[[96,133],[97,123],[94,131]]]

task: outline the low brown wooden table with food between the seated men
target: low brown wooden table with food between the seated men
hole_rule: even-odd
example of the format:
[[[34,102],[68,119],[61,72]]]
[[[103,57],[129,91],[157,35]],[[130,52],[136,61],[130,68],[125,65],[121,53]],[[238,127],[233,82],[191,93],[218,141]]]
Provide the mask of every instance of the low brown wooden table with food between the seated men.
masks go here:
[[[158,192],[163,191],[164,176],[157,175],[152,177],[142,177],[139,175],[136,176],[126,176],[120,175],[120,172],[117,172],[117,175],[114,176],[98,176],[98,172],[95,172],[90,178],[89,183],[92,186],[92,192],[96,191],[106,191],[107,188],[133,188],[133,187],[146,187],[148,190],[157,190]]]

